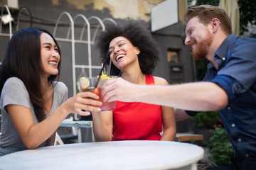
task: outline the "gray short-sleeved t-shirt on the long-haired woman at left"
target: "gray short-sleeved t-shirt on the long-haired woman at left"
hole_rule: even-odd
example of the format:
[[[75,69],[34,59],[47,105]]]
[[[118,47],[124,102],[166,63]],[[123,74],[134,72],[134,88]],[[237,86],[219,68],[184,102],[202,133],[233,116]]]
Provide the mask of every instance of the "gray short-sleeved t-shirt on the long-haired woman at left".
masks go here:
[[[49,116],[55,111],[61,103],[66,101],[68,98],[68,88],[62,82],[53,82],[53,106],[48,113]],[[11,122],[9,113],[7,113],[5,106],[9,104],[15,104],[30,108],[33,115],[34,123],[38,123],[36,114],[34,113],[33,105],[28,95],[26,86],[23,84],[21,79],[11,77],[6,80],[4,88],[1,92],[1,136],[0,146],[1,147],[16,147],[21,149],[27,149],[23,144],[21,137],[18,135],[16,128]],[[39,147],[46,146],[46,142],[43,142]]]

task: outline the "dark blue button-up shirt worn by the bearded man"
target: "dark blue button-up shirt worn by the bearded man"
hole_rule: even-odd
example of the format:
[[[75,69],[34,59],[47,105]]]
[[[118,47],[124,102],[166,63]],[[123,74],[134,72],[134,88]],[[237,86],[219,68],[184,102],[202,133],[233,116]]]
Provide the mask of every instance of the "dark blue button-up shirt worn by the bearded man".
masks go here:
[[[228,94],[228,106],[219,111],[238,162],[256,157],[256,39],[229,35],[208,63],[203,81],[212,81]],[[189,115],[196,115],[187,111]]]

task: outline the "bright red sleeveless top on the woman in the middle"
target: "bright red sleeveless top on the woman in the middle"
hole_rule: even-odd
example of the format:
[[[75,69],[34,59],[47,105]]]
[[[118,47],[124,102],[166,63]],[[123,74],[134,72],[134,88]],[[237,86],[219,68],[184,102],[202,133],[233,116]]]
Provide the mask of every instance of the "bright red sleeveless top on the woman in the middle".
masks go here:
[[[154,84],[154,77],[146,74],[146,84]],[[116,101],[113,140],[160,140],[161,131],[161,106]]]

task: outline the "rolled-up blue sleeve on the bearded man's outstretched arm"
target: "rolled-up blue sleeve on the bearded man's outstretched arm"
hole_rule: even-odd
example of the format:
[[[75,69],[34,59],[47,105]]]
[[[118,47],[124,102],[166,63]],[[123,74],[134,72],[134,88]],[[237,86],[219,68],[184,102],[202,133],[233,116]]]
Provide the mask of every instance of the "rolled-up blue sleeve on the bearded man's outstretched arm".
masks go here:
[[[247,39],[247,43],[238,40],[228,50],[228,57],[222,57],[227,61],[220,67],[217,76],[211,80],[226,91],[229,101],[234,101],[255,84],[256,47],[254,45],[255,40],[251,38]],[[216,55],[219,55],[218,53],[217,51]]]

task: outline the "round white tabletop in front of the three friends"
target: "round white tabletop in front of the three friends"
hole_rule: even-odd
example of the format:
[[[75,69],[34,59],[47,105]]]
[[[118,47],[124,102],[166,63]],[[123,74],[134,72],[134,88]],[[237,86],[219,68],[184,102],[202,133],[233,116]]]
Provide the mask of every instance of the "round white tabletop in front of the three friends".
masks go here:
[[[0,157],[0,169],[177,169],[203,158],[181,142],[87,142],[29,149]]]

